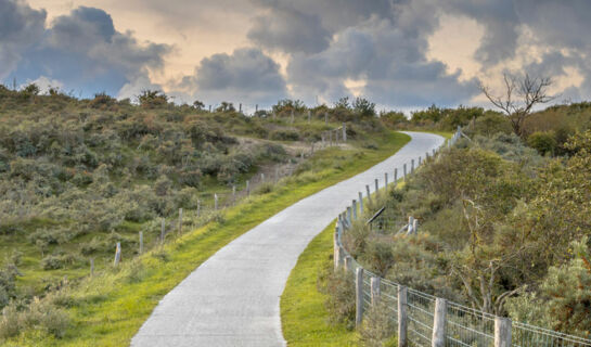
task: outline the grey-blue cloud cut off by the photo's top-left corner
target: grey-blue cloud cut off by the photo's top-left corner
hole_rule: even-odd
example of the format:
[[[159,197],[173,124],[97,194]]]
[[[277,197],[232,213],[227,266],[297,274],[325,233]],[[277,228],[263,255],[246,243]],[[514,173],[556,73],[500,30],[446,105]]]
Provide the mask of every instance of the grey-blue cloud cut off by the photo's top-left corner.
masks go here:
[[[46,11],[23,2],[0,0],[0,80],[16,67],[23,51],[41,39],[46,16]]]

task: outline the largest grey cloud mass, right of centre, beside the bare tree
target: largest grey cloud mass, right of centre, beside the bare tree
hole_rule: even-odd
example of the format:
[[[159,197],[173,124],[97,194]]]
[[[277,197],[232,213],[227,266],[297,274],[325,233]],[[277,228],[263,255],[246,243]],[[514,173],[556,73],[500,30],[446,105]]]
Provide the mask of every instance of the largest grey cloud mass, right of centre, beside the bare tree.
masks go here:
[[[372,16],[346,28],[320,53],[294,55],[288,80],[307,101],[349,94],[350,79],[365,81],[362,93],[386,105],[466,102],[478,92],[476,80],[460,81],[459,72],[449,74],[445,64],[426,59],[437,23],[428,2],[397,4],[389,18]]]

